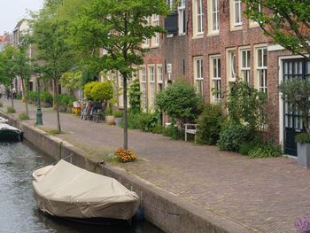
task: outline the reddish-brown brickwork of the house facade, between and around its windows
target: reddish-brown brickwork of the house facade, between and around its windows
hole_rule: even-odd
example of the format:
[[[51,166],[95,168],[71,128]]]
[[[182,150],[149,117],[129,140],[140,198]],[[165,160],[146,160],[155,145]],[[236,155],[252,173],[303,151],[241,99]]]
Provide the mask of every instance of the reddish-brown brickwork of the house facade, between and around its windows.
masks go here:
[[[162,63],[164,80],[167,80],[166,66],[172,64],[172,79],[185,78],[194,84],[195,57],[203,57],[204,97],[205,102],[211,101],[212,82],[210,77],[210,56],[219,54],[221,57],[221,89],[227,89],[227,49],[236,51],[236,75],[239,75],[239,49],[246,46],[251,51],[251,84],[254,84],[254,56],[255,47],[260,44],[272,45],[272,40],[263,35],[262,29],[250,23],[243,15],[243,25],[238,29],[231,29],[230,24],[230,0],[219,0],[220,30],[217,35],[208,35],[208,0],[203,0],[204,35],[199,38],[193,35],[193,9],[192,1],[186,1],[186,35],[160,36],[158,50],[151,50],[145,58],[144,64]],[[243,10],[245,6],[243,5]],[[277,85],[279,83],[278,57],[291,55],[291,52],[267,51],[267,93],[270,97],[268,114],[270,122],[267,128],[267,136],[279,142],[279,95]]]

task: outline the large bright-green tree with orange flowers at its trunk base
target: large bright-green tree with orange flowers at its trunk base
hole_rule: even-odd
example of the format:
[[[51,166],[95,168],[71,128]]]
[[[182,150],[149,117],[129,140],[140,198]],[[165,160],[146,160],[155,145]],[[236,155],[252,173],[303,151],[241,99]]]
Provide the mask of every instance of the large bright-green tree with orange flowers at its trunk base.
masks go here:
[[[128,149],[128,79],[143,64],[147,51],[141,43],[156,33],[159,26],[147,25],[153,14],[167,16],[170,8],[162,0],[96,0],[88,4],[73,23],[71,42],[84,61],[97,69],[118,70],[123,77],[124,150]],[[100,55],[104,49],[106,54]]]

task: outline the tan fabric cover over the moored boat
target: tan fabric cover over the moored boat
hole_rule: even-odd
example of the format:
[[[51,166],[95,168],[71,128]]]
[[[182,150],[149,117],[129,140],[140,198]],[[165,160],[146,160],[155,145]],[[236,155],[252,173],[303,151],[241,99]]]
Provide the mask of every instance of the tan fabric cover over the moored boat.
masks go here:
[[[65,160],[60,160],[39,181],[33,181],[33,187],[39,208],[59,217],[128,220],[139,207],[136,192],[113,178]]]

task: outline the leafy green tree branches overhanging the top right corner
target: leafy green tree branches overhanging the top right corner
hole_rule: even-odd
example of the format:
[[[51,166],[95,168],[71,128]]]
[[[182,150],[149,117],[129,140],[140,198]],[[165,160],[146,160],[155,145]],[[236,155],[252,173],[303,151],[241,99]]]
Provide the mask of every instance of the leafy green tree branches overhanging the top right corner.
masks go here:
[[[308,0],[242,0],[249,19],[286,50],[310,55],[310,4]]]

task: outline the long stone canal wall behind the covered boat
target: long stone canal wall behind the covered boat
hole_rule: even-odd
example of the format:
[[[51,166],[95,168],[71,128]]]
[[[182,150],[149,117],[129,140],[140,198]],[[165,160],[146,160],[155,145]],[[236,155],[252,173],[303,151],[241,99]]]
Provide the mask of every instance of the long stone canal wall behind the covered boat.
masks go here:
[[[10,119],[10,124],[24,132],[24,138],[33,144],[38,151],[55,159],[72,156],[72,163],[91,172],[104,174],[117,179],[129,190],[134,190],[142,198],[144,217],[159,229],[168,233],[250,233],[255,232],[236,224],[221,215],[213,214],[199,206],[187,203],[167,190],[130,175],[120,167],[100,164],[100,159],[90,156],[85,151],[66,143],[55,136],[50,136],[43,130],[14,120],[4,113],[0,116]]]

